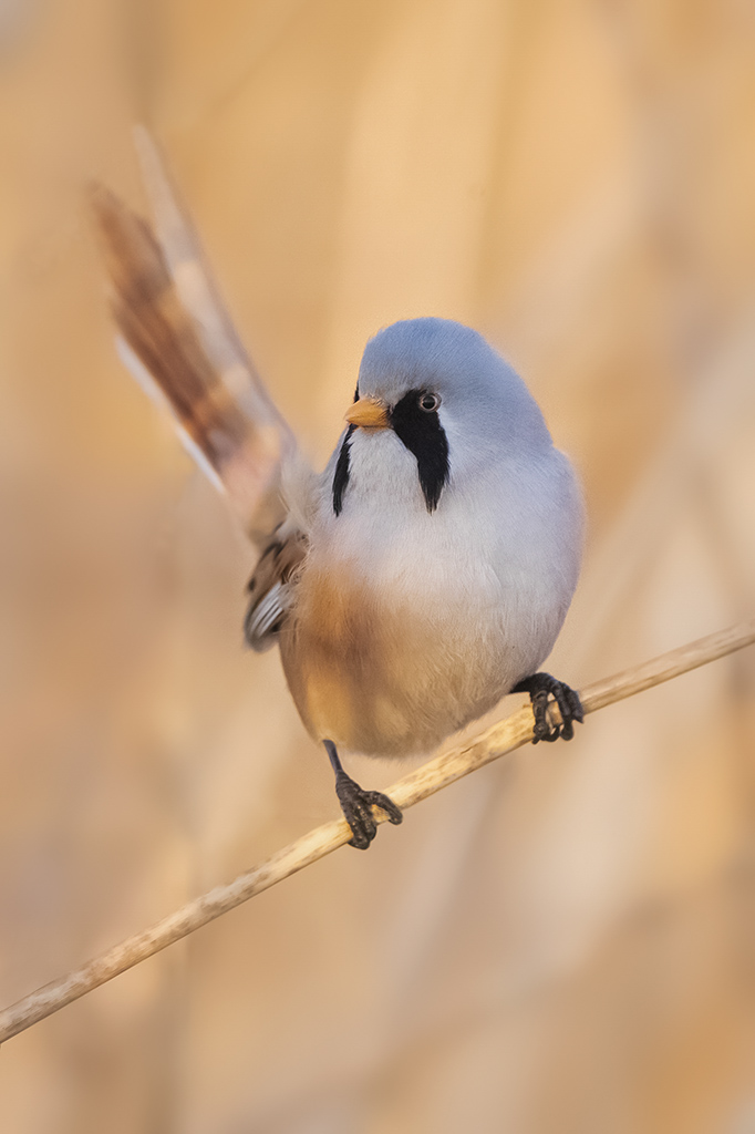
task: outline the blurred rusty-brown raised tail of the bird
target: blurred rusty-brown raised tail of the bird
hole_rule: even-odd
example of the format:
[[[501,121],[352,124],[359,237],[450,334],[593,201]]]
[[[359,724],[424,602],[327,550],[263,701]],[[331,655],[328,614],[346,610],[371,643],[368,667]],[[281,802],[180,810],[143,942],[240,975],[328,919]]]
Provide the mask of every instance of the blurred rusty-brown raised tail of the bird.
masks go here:
[[[102,185],[91,204],[111,286],[121,356],[159,391],[189,451],[255,542],[281,521],[281,466],[294,435],[230,322],[160,154],[136,135],[156,234]]]

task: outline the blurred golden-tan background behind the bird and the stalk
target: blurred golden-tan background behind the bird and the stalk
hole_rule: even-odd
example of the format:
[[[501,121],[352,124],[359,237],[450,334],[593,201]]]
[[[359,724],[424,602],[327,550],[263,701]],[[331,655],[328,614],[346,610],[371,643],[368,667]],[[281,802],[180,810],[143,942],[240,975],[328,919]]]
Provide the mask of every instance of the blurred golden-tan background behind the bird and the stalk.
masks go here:
[[[526,376],[591,516],[559,675],[755,611],[752,0],[5,0],[3,1004],[337,814],[114,356],[83,186],[143,206],[137,119],[317,462],[393,319]],[[9,1041],[0,1129],[754,1134],[754,689],[605,710]]]

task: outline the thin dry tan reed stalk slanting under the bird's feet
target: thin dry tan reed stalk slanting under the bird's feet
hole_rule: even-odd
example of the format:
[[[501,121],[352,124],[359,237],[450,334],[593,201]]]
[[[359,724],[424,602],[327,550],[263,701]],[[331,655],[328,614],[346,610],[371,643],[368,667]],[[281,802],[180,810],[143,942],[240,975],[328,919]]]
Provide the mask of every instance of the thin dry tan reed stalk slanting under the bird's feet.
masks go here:
[[[710,661],[733,653],[735,650],[741,650],[753,642],[755,642],[755,618],[698,638],[678,650],[671,650],[643,666],[596,682],[580,694],[585,713],[595,712],[616,701],[634,696],[653,685],[660,685],[690,669],[697,669]],[[552,712],[558,720],[558,709],[553,708]],[[461,779],[463,776],[468,776],[477,768],[527,744],[532,739],[532,709],[526,706],[493,725],[469,743],[435,756],[434,760],[405,776],[393,787],[388,788],[388,795],[402,810],[412,807],[415,803],[453,784],[455,780]],[[379,822],[382,821],[382,818],[379,819]],[[247,898],[323,858],[348,843],[350,835],[343,819],[324,823],[283,847],[258,866],[239,874],[228,886],[217,886],[209,894],[188,902],[176,913],[113,946],[68,976],[44,984],[0,1012],[0,1043],[112,980],[127,968],[133,968],[139,962],[154,956],[175,941],[180,941],[194,930],[236,908]]]

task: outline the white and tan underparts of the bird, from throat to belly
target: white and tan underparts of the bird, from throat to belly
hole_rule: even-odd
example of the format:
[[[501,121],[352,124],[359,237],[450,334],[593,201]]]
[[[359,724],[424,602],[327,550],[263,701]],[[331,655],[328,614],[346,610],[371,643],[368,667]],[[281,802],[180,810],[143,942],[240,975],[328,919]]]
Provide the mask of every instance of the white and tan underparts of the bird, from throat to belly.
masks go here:
[[[359,432],[336,516],[332,471],[331,462],[281,642],[291,692],[319,737],[374,754],[427,751],[550,652],[578,567],[574,477],[552,449],[542,467],[486,465],[474,482],[451,464],[430,514],[396,434]],[[323,615],[332,595],[320,601],[333,586],[346,601],[338,618]]]

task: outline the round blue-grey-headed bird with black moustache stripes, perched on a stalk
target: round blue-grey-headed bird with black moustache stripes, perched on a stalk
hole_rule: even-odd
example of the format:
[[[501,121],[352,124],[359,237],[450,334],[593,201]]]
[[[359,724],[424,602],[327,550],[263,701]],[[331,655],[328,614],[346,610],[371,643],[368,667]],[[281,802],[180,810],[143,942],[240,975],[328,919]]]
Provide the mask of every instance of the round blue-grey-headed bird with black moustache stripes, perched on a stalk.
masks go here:
[[[375,809],[402,815],[342,753],[429,753],[514,692],[531,697],[534,743],[571,739],[579,695],[540,667],[577,585],[582,488],[516,371],[478,331],[434,316],[368,340],[316,473],[240,344],[156,143],[135,137],[154,228],[91,188],[120,352],[256,548],[245,640],[278,646],[349,841],[366,849]]]

